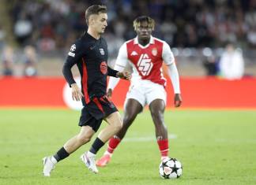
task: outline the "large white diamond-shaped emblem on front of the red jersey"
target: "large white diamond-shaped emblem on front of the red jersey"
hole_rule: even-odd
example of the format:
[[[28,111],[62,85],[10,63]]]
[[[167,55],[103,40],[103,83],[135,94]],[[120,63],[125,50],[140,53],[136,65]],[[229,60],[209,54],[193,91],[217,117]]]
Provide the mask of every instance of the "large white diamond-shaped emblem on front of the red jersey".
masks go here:
[[[141,54],[137,62],[137,68],[143,76],[148,76],[152,69],[152,62],[148,54]]]

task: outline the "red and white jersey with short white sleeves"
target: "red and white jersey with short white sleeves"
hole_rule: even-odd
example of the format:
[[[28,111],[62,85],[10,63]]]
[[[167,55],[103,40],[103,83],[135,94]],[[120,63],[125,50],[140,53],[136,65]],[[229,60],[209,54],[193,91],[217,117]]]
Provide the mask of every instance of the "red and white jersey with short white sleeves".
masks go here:
[[[149,44],[141,46],[136,37],[122,44],[115,65],[132,66],[132,83],[150,80],[166,86],[162,72],[163,61],[166,65],[171,65],[175,61],[168,43],[151,36]]]

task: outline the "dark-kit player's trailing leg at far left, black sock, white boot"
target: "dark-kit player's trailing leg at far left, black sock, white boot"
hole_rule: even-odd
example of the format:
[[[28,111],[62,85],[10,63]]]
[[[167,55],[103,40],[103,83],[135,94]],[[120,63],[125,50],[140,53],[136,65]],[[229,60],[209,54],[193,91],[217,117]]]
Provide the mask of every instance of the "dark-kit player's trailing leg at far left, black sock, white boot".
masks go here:
[[[80,146],[84,145],[86,142],[90,141],[92,135],[95,131],[89,126],[81,127],[81,131],[78,135],[68,140],[60,150],[56,152],[55,155],[51,157],[43,158],[43,175],[50,176],[51,170],[55,168],[58,161],[62,161],[66,157],[69,157],[75,150]]]

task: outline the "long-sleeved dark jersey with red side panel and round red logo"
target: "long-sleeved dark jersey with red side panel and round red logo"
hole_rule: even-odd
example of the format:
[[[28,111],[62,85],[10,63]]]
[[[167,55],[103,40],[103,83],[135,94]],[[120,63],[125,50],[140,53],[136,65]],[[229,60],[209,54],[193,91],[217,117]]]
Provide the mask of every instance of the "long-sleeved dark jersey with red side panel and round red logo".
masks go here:
[[[62,72],[66,81],[75,83],[71,68],[77,65],[81,74],[81,91],[83,105],[88,104],[94,97],[106,94],[107,76],[115,76],[117,71],[107,66],[107,43],[100,37],[95,39],[85,32],[70,48]]]

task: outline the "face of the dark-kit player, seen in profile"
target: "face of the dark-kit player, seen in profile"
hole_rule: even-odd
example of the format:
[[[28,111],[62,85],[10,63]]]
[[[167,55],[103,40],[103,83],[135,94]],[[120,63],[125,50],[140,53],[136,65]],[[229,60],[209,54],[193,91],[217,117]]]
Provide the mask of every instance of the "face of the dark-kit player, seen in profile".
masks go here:
[[[92,27],[99,34],[104,33],[107,27],[107,13],[100,13],[99,15],[93,15]]]

